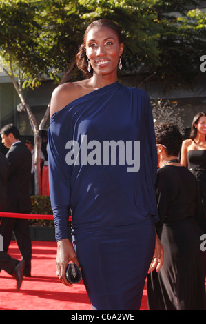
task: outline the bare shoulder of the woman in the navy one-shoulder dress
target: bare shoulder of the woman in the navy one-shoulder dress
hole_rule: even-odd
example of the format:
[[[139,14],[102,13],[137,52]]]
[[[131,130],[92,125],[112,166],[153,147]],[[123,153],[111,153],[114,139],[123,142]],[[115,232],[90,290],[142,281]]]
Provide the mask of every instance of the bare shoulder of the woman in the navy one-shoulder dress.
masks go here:
[[[52,99],[50,103],[50,117],[54,112],[58,112],[66,105],[78,99],[85,94],[85,80],[63,83],[56,87],[52,92]]]

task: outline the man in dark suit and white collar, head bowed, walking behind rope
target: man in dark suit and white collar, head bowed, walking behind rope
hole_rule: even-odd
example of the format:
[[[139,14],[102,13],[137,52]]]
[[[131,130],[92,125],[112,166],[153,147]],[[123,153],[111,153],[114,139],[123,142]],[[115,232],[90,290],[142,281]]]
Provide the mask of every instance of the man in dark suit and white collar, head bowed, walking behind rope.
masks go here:
[[[9,148],[6,158],[9,163],[8,190],[6,212],[29,214],[30,200],[30,171],[32,154],[20,141],[20,134],[16,126],[9,124],[1,129],[3,145]],[[32,244],[28,219],[3,218],[0,234],[3,236],[3,250],[8,251],[12,232],[17,241],[21,256],[25,261],[24,276],[31,275]]]

